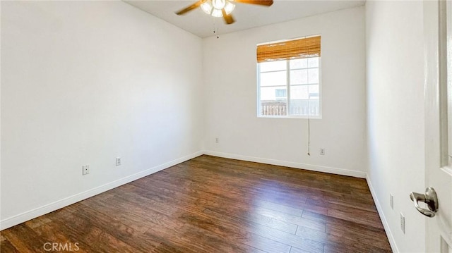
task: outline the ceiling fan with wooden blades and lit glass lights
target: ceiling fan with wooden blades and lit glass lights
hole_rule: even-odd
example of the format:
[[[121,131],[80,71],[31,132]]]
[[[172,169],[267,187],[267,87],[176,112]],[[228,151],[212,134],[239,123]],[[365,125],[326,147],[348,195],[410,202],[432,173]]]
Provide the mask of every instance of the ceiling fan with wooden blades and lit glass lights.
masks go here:
[[[201,6],[201,9],[208,15],[218,18],[223,17],[225,23],[230,25],[235,21],[231,15],[235,8],[234,2],[242,4],[256,4],[261,6],[271,6],[273,4],[273,0],[198,0],[191,6],[177,11],[176,14],[182,15]]]

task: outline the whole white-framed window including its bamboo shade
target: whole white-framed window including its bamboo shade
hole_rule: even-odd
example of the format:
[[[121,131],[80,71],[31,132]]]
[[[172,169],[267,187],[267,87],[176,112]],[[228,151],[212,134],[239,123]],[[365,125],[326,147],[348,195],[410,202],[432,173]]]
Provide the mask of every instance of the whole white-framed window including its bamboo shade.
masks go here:
[[[320,36],[257,47],[258,116],[321,118]]]

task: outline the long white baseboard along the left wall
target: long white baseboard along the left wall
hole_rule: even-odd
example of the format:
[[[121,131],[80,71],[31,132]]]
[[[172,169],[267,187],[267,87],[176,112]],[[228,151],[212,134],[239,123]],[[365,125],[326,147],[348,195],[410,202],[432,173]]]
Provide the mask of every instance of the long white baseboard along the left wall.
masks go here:
[[[178,163],[182,163],[184,161],[188,161],[190,159],[194,159],[196,156],[201,156],[203,154],[202,151],[195,152],[193,154],[189,154],[187,156],[181,157],[179,159],[175,159],[173,161],[169,161],[167,163],[163,163],[159,166],[155,166],[153,168],[148,168],[145,171],[140,171],[138,173],[135,173],[133,175],[128,175],[125,178],[121,178],[118,180],[114,180],[113,182],[107,183],[105,185],[100,185],[98,187],[95,187],[93,189],[87,190],[85,192],[80,192],[76,195],[72,195],[70,197],[66,197],[64,199],[60,199],[56,202],[46,204],[44,206],[40,206],[36,209],[32,209],[30,211],[25,211],[22,214],[18,214],[16,216],[12,216],[10,218],[6,218],[4,220],[0,221],[0,230],[4,230],[6,228],[10,228],[12,226],[16,226],[20,223],[23,223],[25,221],[29,221],[32,218],[36,218],[39,216],[42,216],[44,214],[48,214],[52,211],[58,210],[63,208],[64,206],[69,206],[71,204],[74,204],[76,202],[80,202],[83,199],[88,199],[89,197],[93,197],[95,195],[98,195],[102,192],[106,192],[107,190],[112,190],[115,187],[124,185],[126,183],[130,183],[134,180],[137,180],[139,178],[143,178],[146,175],[150,175],[153,173],[156,173],[157,171],[162,171],[165,168],[169,168],[171,166],[174,166]]]

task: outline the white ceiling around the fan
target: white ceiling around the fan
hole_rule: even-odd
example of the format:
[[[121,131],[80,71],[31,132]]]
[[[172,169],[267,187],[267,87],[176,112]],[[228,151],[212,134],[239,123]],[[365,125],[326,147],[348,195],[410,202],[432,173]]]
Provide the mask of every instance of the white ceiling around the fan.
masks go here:
[[[218,27],[220,35],[246,30],[252,27],[280,23],[297,18],[313,16],[319,13],[338,11],[343,8],[351,8],[364,5],[364,0],[330,0],[330,1],[308,1],[308,0],[275,0],[270,7],[257,6],[254,4],[236,4],[232,15],[235,23],[225,25],[222,18],[213,18],[203,13],[201,8],[196,8],[182,16],[177,16],[174,12],[186,6],[194,4],[192,1],[173,0],[147,0],[130,1],[123,0],[132,6],[152,14],[162,20],[166,20],[177,27],[191,32],[192,34],[204,38],[213,34],[214,27]]]

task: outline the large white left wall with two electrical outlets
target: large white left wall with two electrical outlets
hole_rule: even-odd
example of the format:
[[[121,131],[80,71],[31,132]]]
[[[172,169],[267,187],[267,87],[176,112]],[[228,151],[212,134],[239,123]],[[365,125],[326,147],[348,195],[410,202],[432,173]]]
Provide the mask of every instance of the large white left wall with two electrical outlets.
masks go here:
[[[1,1],[2,228],[201,154],[202,55],[122,1]]]

